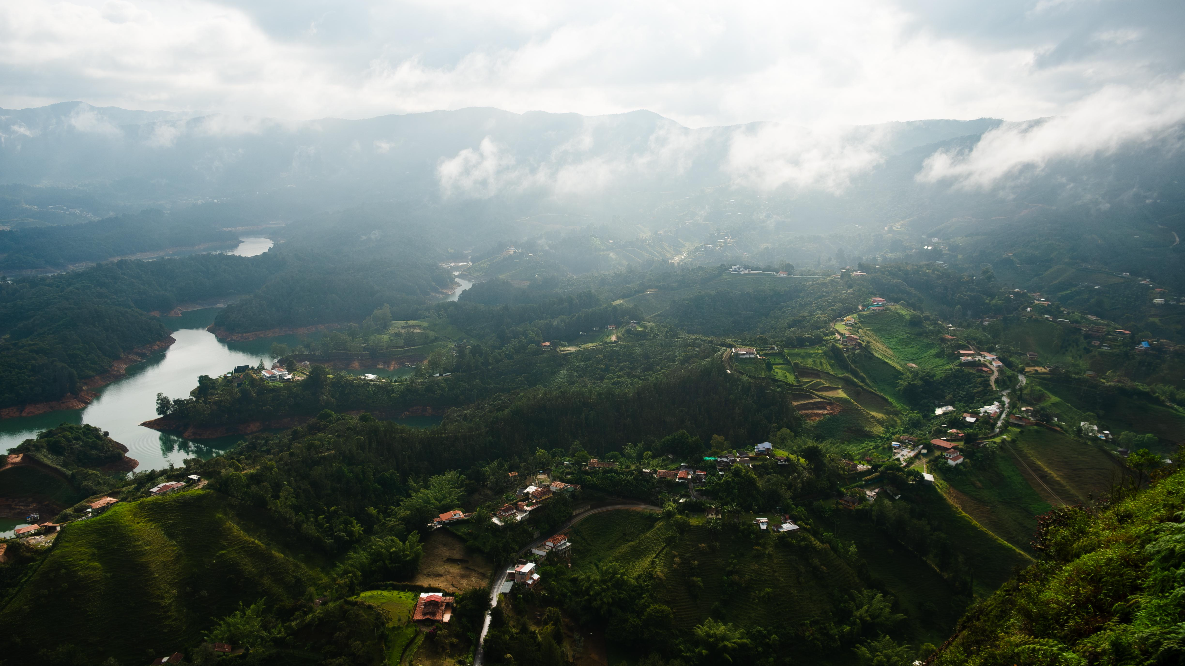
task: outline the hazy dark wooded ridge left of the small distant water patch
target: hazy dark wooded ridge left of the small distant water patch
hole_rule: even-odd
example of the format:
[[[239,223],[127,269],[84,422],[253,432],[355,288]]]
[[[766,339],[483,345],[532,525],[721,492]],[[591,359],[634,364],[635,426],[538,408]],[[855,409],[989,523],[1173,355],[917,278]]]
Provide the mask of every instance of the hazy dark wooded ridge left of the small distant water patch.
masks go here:
[[[0,270],[56,268],[111,257],[238,242],[238,235],[191,209],[167,213],[149,209],[82,224],[0,231]]]

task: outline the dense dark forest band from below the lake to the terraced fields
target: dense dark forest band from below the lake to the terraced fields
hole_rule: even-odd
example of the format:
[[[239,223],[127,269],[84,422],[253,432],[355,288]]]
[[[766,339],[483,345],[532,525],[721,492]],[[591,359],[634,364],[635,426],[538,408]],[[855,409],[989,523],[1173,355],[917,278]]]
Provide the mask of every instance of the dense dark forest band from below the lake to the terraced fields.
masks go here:
[[[401,502],[416,492],[416,479],[431,474],[525,460],[577,441],[589,454],[604,455],[683,429],[704,441],[712,435],[758,441],[775,424],[799,427],[799,418],[777,388],[709,363],[628,391],[526,391],[450,415],[431,430],[325,410],[301,428],[256,435],[226,455],[188,465],[219,489],[287,517],[310,543],[340,552],[380,523],[402,521],[367,507]],[[408,521],[384,529],[402,538],[417,527]]]

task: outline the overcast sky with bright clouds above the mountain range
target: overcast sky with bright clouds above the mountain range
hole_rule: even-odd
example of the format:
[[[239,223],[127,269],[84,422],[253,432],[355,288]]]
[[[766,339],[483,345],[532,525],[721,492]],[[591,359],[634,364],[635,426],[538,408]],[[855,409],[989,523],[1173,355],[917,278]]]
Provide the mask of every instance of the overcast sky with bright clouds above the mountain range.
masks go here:
[[[1024,120],[1158,87],[1179,101],[1185,71],[1180,0],[557,5],[0,0],[0,107],[822,127]]]

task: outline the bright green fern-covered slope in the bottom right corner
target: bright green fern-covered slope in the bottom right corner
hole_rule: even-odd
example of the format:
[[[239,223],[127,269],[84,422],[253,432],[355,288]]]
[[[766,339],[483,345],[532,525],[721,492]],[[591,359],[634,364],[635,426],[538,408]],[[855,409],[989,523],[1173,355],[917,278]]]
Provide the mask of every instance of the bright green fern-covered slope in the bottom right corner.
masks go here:
[[[936,666],[1180,664],[1185,474],[1042,521],[1039,559],[960,622]]]

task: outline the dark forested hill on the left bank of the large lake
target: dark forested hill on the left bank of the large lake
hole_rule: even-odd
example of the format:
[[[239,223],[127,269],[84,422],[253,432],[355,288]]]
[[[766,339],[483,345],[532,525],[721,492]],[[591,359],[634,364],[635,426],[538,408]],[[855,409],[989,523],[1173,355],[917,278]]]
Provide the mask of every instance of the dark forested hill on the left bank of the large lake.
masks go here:
[[[168,337],[148,312],[257,289],[268,263],[230,255],[123,260],[0,283],[0,406],[77,393],[83,379]]]

